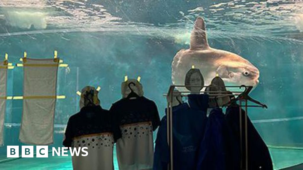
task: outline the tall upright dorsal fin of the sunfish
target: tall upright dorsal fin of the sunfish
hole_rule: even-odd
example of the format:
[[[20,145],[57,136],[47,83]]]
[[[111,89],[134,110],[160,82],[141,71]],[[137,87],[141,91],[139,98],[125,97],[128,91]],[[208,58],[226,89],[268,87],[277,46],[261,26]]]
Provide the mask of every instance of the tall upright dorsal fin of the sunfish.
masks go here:
[[[190,49],[205,49],[208,48],[205,22],[202,17],[198,17],[195,21],[194,28],[190,36]]]

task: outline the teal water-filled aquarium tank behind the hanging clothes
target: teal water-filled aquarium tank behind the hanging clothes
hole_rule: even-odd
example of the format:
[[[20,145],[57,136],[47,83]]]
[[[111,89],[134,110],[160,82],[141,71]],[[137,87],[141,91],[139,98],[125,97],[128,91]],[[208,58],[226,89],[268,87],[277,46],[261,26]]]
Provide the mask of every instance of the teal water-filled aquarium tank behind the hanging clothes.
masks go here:
[[[271,154],[275,169],[303,163],[303,2],[295,0],[1,0],[0,58],[7,70],[6,96],[23,95],[20,58],[53,58],[58,67],[54,143],[62,147],[68,118],[79,112],[85,86],[100,87],[102,108],[122,98],[125,76],[141,77],[144,96],[160,118],[172,84],[172,61],[190,46],[197,17],[205,20],[209,46],[230,51],[259,70],[250,96],[268,109],[248,116]],[[302,89],[301,89],[302,88]],[[72,169],[70,156],[7,158],[19,141],[22,100],[7,100],[0,169]],[[3,109],[3,108],[1,108]],[[154,132],[154,138],[156,131]],[[21,154],[21,151],[20,151]],[[114,152],[114,165],[118,163]]]

